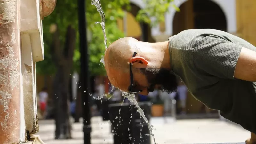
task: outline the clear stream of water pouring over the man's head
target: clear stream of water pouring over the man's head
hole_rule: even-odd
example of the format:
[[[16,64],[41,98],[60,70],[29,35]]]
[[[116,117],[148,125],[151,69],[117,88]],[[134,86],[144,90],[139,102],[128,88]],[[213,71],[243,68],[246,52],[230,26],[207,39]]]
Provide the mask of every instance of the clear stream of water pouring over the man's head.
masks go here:
[[[97,8],[97,11],[100,13],[100,17],[101,17],[101,22],[95,22],[95,24],[100,24],[101,25],[101,28],[102,28],[102,31],[103,31],[103,35],[104,35],[104,43],[105,43],[105,49],[107,49],[107,36],[106,36],[106,33],[105,33],[105,14],[102,10],[102,7],[101,7],[101,4],[100,4],[100,0],[92,0],[92,5],[95,5],[95,7]],[[101,63],[103,63],[103,65],[105,66],[105,63],[104,63],[104,59],[102,57],[102,59],[100,60]],[[122,90],[120,90],[122,92],[122,96],[124,98],[127,98],[131,103],[133,103],[138,109],[137,109],[137,112],[140,113],[140,116],[144,119],[144,121],[147,123],[148,125],[148,129],[150,130],[151,134],[153,136],[153,139],[154,139],[154,143],[156,144],[156,140],[155,140],[155,136],[152,132],[152,128],[148,122],[148,119],[146,118],[143,110],[140,108],[140,106],[138,105],[138,102],[135,100],[135,95],[134,94],[129,94],[128,92],[124,92]],[[101,99],[103,98],[104,96],[102,97],[98,97],[96,99]],[[120,113],[120,110],[119,110],[119,113]]]

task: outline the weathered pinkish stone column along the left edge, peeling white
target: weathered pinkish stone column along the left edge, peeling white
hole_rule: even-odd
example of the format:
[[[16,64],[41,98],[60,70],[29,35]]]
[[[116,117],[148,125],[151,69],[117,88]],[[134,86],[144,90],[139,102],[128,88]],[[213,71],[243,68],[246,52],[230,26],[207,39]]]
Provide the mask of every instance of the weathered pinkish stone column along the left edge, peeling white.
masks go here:
[[[21,57],[20,0],[0,0],[0,143],[25,140]]]

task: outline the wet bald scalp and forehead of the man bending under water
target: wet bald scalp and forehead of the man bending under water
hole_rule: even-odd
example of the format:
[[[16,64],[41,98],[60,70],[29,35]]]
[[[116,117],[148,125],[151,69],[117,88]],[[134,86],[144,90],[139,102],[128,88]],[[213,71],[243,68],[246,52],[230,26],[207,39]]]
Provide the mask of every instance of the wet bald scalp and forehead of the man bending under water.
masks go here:
[[[136,45],[138,40],[125,37],[116,40],[105,52],[104,63],[108,79],[111,84],[122,90],[127,90],[129,81],[129,61],[133,53],[138,49]]]

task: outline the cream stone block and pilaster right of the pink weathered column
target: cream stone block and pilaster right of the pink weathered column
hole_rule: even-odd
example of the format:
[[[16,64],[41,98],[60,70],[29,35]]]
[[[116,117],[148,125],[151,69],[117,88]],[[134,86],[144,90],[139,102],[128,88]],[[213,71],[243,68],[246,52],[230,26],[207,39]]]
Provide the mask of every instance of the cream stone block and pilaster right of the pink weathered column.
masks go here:
[[[42,19],[52,13],[56,0],[21,0],[21,70],[26,132],[39,131],[36,100],[36,62],[44,60]]]

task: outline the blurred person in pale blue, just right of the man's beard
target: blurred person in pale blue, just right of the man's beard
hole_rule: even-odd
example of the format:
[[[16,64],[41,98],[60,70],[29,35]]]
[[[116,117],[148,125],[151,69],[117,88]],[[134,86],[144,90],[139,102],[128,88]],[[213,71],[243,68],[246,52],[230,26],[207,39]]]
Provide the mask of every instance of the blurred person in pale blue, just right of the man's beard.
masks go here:
[[[186,114],[187,92],[188,92],[188,89],[186,85],[182,81],[179,81],[179,85],[177,87],[177,93],[179,94],[178,96],[179,96],[179,102],[181,106],[181,114]]]

